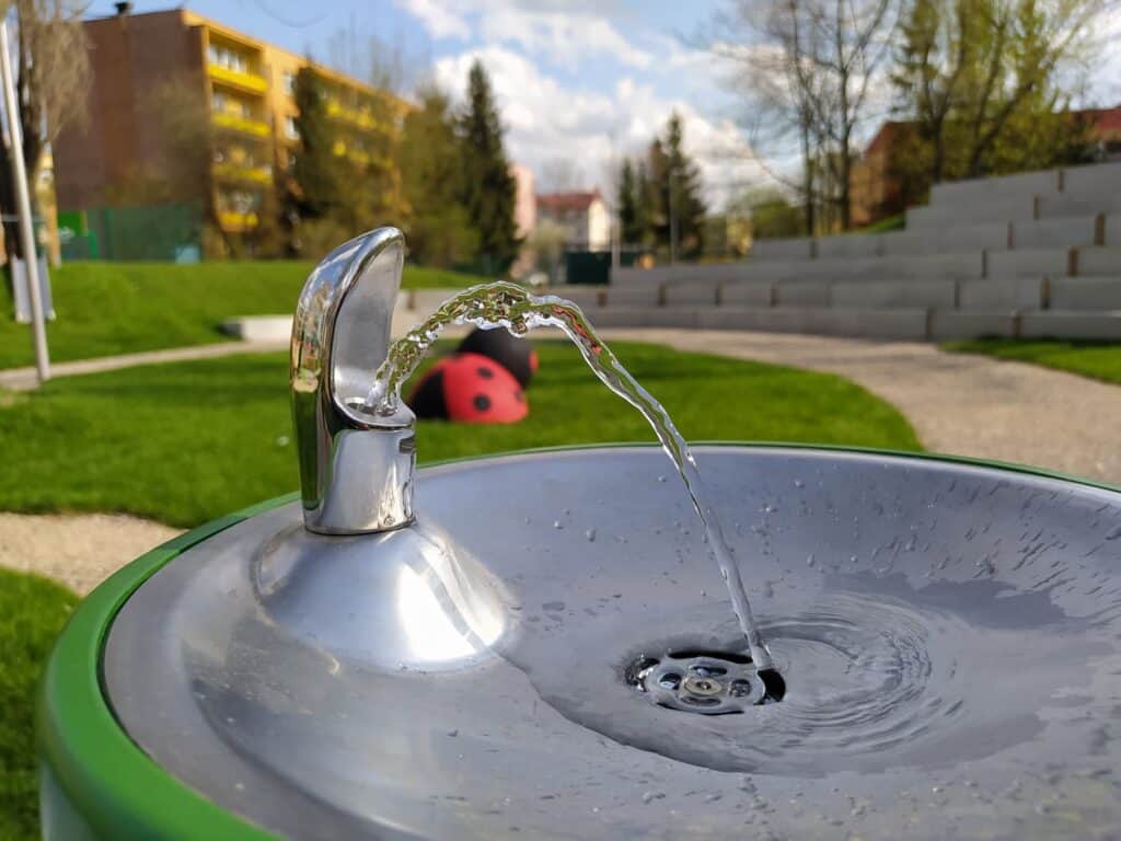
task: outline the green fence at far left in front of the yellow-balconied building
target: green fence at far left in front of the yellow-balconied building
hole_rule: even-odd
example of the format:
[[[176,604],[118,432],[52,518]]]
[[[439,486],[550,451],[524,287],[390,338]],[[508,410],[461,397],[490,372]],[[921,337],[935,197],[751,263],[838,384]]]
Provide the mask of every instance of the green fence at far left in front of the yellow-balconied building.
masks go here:
[[[202,256],[200,204],[93,207],[58,214],[64,260],[196,262]]]

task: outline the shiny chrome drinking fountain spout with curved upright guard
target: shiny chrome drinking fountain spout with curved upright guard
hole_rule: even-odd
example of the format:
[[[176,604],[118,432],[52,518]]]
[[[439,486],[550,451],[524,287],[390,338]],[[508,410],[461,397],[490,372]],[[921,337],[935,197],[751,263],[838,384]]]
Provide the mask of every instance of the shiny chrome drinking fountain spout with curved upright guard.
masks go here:
[[[332,535],[413,521],[413,413],[367,405],[389,352],[405,238],[379,228],[346,242],[304,284],[291,329],[291,406],[304,525]]]

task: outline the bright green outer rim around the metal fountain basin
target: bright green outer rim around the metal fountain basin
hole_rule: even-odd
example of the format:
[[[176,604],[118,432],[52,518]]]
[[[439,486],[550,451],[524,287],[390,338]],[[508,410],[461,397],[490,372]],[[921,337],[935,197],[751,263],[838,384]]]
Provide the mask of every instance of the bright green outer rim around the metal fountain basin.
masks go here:
[[[426,468],[512,455],[615,447],[618,443],[541,447],[454,459]],[[1121,487],[1022,464],[874,447],[781,442],[696,442],[693,446],[734,446],[882,455],[924,462],[988,468],[1121,492]],[[298,500],[297,493],[212,520],[148,552],[87,595],[74,611],[47,662],[36,704],[40,763],[48,766],[95,838],[118,841],[205,838],[263,841],[269,832],[224,811],[148,757],[124,732],[102,687],[101,660],[113,620],[128,599],[173,558],[254,515]]]

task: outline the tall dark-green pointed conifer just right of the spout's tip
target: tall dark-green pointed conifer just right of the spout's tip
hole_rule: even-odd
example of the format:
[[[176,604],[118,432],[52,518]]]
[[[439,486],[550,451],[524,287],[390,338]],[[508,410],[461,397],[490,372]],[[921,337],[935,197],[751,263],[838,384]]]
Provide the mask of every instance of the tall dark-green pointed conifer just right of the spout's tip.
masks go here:
[[[521,242],[515,224],[517,182],[502,145],[502,123],[483,65],[467,75],[467,102],[458,120],[463,158],[462,201],[480,238],[480,268],[504,274]]]

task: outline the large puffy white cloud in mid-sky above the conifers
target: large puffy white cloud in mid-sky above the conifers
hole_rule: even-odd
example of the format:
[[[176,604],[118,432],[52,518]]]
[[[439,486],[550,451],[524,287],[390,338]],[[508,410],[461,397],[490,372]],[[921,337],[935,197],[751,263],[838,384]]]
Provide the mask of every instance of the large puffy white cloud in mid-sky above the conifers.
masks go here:
[[[471,63],[487,67],[508,128],[510,156],[540,174],[549,161],[571,160],[584,186],[610,188],[613,161],[642,153],[676,109],[685,122],[685,145],[701,166],[710,203],[762,177],[742,132],[730,120],[711,119],[691,102],[659,96],[631,77],[596,91],[563,86],[511,49],[489,46],[436,62],[437,82],[462,98]]]

